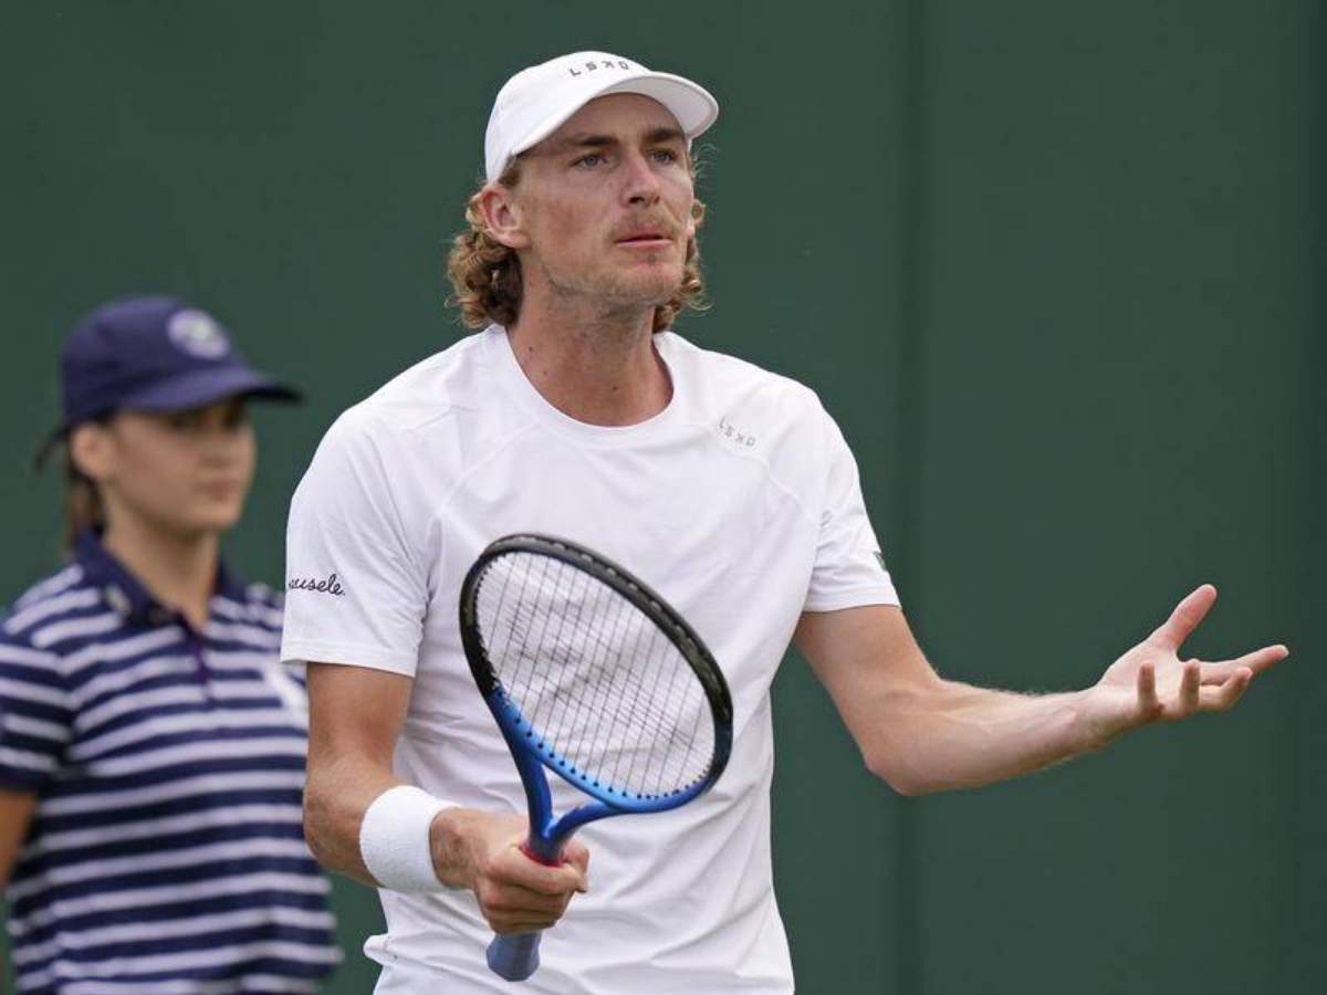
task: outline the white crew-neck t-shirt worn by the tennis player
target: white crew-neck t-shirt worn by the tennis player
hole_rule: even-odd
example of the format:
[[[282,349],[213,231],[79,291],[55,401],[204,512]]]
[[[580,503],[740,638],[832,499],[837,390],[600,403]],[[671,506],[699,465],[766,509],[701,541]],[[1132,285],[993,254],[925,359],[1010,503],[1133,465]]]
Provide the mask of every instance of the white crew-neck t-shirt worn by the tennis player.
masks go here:
[[[770,864],[770,682],[803,612],[897,597],[852,454],[816,395],[670,332],[654,345],[673,398],[640,425],[561,414],[496,326],[341,415],[291,505],[281,655],[413,677],[397,775],[523,813],[462,651],[460,580],[512,532],[571,539],[636,572],[723,669],[733,755],[698,800],[580,832],[589,894],[544,935],[523,991],[791,992]],[[555,812],[584,800],[549,780]],[[491,934],[470,892],[380,894],[387,935],[365,946],[376,961],[435,971],[439,994],[511,991],[484,963]]]

